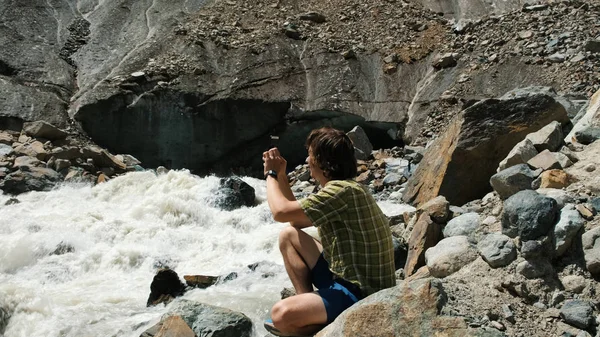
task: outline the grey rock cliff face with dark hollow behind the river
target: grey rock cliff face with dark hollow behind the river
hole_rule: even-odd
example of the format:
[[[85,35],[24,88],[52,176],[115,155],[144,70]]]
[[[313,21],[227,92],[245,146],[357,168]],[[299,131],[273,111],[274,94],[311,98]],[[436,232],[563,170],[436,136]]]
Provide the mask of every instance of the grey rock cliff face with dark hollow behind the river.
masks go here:
[[[490,34],[497,20],[456,33],[454,19],[520,1],[28,3],[0,0],[0,115],[73,124],[148,166],[256,167],[269,135],[297,163],[321,125],[424,142],[432,115],[462,99],[558,85],[535,55],[490,61],[508,41],[479,48],[476,25]],[[458,103],[442,109],[449,92]]]

